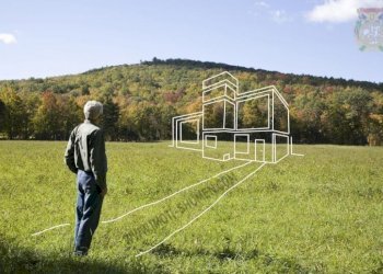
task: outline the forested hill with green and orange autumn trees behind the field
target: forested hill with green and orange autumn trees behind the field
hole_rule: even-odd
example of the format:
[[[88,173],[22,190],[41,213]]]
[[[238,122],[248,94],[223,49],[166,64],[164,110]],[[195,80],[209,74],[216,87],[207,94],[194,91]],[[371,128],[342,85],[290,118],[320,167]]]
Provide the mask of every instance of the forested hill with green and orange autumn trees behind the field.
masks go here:
[[[171,117],[199,111],[201,81],[224,70],[240,80],[242,92],[276,85],[290,104],[295,141],[383,140],[383,83],[156,58],[80,75],[0,81],[0,137],[66,139],[82,121],[84,102],[95,99],[105,105],[108,139],[169,139]]]

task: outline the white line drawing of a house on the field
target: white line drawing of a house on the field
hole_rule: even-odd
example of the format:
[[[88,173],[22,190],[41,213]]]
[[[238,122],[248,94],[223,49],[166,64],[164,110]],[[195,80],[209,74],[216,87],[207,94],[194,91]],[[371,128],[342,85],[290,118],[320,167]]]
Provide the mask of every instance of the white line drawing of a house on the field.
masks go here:
[[[262,116],[259,116],[262,125],[240,125],[240,111],[247,102],[262,102],[267,105]],[[219,123],[220,126],[210,127],[206,123],[207,107],[216,104],[221,104],[223,113]],[[228,121],[230,114],[233,121]],[[184,140],[182,138],[183,125],[192,122],[196,123],[196,139]],[[254,123],[259,122],[254,121]],[[242,138],[242,141],[240,138]],[[233,146],[227,145],[227,149],[220,147],[220,141],[230,140],[232,140]],[[230,72],[223,71],[202,81],[201,112],[172,118],[171,146],[200,151],[202,158],[209,160],[228,161],[235,159],[277,163],[287,156],[293,155],[289,104],[275,85],[240,92],[239,80]],[[211,153],[212,151],[213,153]]]

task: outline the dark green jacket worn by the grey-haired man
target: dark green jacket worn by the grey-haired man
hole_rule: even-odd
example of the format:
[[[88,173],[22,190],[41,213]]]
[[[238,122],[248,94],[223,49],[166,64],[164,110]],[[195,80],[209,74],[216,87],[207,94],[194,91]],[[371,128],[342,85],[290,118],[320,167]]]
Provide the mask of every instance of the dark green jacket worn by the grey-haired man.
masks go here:
[[[70,134],[65,162],[74,173],[79,169],[93,172],[96,184],[104,190],[106,187],[107,160],[103,130],[89,119],[77,126]]]

